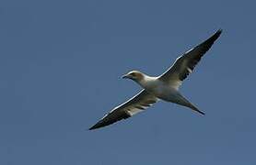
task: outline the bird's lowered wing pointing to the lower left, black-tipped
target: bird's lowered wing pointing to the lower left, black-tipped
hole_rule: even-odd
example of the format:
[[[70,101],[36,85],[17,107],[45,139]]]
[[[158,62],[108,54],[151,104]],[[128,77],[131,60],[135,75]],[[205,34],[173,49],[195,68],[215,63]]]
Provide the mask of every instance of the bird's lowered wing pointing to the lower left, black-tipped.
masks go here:
[[[104,115],[99,122],[91,126],[89,130],[96,129],[102,126],[111,125],[119,120],[126,119],[145,110],[145,108],[151,106],[157,102],[157,97],[142,90],[137,93],[133,98],[127,102],[115,107],[110,113]]]

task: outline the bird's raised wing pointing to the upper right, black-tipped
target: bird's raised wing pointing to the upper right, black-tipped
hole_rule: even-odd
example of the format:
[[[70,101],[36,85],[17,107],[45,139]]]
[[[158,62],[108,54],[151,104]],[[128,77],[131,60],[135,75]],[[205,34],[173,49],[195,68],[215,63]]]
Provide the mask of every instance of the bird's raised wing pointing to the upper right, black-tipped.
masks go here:
[[[212,47],[215,40],[220,36],[221,32],[221,29],[217,30],[212,37],[207,38],[203,43],[199,44],[193,49],[188,50],[177,58],[169,70],[164,72],[159,79],[169,82],[170,85],[178,89],[181,82],[192,72],[195,65],[204,56],[205,52]]]

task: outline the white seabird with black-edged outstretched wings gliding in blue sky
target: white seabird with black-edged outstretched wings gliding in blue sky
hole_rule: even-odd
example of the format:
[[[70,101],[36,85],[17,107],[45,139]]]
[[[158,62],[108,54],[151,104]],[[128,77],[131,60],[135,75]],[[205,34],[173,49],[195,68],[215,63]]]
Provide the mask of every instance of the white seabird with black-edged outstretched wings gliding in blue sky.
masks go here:
[[[123,75],[122,78],[133,80],[138,83],[143,90],[134,95],[134,97],[127,102],[113,108],[110,113],[104,115],[99,122],[91,126],[89,130],[109,126],[119,120],[145,111],[147,107],[156,103],[158,100],[180,104],[204,115],[204,112],[200,111],[179,92],[179,88],[183,80],[192,73],[195,65],[201,60],[205,52],[210,49],[215,40],[219,38],[221,32],[221,29],[217,30],[212,37],[207,38],[201,44],[182,54],[167,71],[157,77],[146,75],[141,71],[130,71]]]

